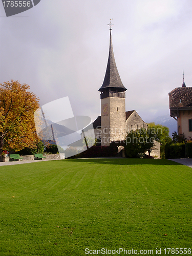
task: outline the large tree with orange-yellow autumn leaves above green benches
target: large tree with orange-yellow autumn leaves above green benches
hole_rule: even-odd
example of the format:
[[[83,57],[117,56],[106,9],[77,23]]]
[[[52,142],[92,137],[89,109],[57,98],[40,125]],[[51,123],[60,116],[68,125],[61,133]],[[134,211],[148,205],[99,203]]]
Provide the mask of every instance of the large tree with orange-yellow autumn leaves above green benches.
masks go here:
[[[3,150],[34,147],[39,140],[34,123],[39,99],[29,89],[19,81],[0,84],[0,155]]]

